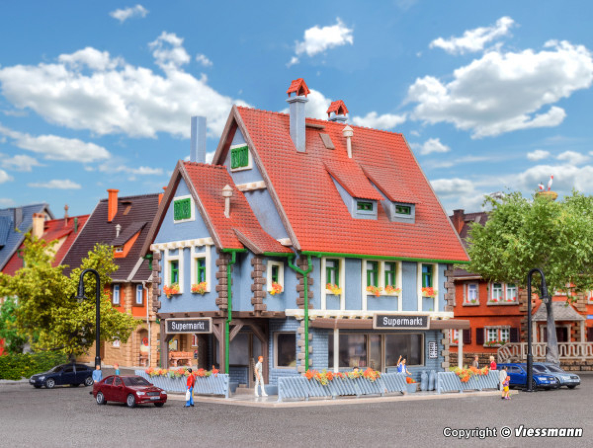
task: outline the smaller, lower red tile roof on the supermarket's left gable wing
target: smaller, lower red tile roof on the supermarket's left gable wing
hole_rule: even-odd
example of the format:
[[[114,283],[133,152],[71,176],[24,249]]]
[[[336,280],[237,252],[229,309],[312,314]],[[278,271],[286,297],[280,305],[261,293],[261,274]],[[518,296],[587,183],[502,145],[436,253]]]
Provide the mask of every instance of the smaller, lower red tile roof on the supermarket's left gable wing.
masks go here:
[[[256,252],[291,252],[263,230],[226,167],[192,162],[183,162],[183,166],[224,249],[243,249],[247,243]],[[226,185],[232,188],[229,218],[224,215],[222,197]]]

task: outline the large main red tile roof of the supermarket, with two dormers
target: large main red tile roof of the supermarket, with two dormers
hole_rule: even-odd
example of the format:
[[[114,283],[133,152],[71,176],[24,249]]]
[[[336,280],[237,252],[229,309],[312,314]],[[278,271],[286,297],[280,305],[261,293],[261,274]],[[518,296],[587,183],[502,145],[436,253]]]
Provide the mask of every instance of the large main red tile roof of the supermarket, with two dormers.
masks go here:
[[[353,158],[349,159],[343,123],[307,118],[307,124],[324,126],[323,132],[336,149],[324,146],[319,129],[307,127],[306,152],[298,153],[287,114],[244,107],[237,111],[302,250],[467,260],[457,233],[401,134],[350,126]],[[370,184],[362,178],[364,171],[370,173],[390,198],[416,204],[415,223],[390,222],[382,207],[377,220],[352,218],[327,167],[336,178],[347,179],[344,182],[352,191],[367,192]]]

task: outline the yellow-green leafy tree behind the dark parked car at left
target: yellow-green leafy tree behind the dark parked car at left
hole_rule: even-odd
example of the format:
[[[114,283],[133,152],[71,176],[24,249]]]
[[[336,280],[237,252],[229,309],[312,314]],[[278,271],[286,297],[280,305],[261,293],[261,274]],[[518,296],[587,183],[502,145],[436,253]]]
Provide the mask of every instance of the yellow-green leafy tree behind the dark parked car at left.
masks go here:
[[[116,271],[113,249],[97,244],[68,277],[65,266],[52,266],[54,243],[25,236],[23,269],[14,276],[0,274],[0,296],[18,297],[14,325],[27,336],[33,350],[59,350],[75,357],[87,353],[95,340],[95,281],[85,277],[87,300],[77,301],[82,270],[96,269],[101,285]],[[101,291],[101,340],[126,342],[139,321],[111,307],[109,293]]]

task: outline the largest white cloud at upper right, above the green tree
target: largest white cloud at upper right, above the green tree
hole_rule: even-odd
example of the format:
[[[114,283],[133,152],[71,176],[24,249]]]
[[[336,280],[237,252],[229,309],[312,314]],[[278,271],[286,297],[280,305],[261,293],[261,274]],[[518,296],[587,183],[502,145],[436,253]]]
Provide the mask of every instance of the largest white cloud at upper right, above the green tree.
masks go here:
[[[584,46],[550,41],[538,53],[490,51],[455,70],[452,78],[447,83],[433,76],[416,79],[407,98],[417,103],[413,118],[452,123],[473,138],[491,137],[562,123],[562,108],[542,109],[591,86],[593,59]]]

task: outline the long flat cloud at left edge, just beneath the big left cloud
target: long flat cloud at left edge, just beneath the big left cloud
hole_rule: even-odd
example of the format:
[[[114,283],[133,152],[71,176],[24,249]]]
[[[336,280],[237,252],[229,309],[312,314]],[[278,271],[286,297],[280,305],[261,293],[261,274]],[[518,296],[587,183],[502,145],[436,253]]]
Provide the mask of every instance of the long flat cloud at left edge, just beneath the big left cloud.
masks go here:
[[[15,146],[42,154],[48,160],[73,160],[75,162],[90,163],[96,160],[108,159],[109,152],[94,143],[85,143],[78,138],[64,138],[58,136],[38,136],[9,130],[0,125],[0,134],[12,138]]]

